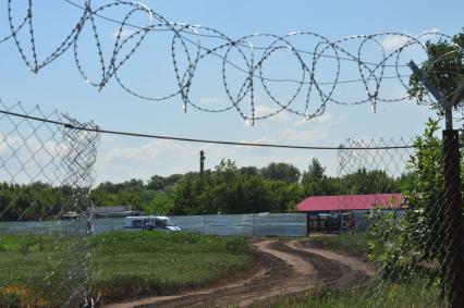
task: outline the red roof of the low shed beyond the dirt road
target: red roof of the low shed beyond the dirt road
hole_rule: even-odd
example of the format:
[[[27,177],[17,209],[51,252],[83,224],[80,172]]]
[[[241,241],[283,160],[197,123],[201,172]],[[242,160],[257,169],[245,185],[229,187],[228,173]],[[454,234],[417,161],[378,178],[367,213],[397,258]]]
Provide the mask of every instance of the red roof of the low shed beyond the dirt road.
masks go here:
[[[313,196],[296,205],[298,212],[368,210],[374,207],[399,208],[401,194]]]

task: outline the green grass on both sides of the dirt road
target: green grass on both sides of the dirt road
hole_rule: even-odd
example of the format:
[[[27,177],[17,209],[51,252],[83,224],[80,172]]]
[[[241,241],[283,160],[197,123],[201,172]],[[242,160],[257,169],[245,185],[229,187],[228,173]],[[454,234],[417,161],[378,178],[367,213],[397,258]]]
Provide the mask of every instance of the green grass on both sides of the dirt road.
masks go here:
[[[367,237],[320,235],[314,245],[367,258]],[[113,232],[91,237],[0,236],[0,307],[59,307],[77,291],[100,301],[170,294],[243,272],[252,264],[245,238],[192,233]],[[85,274],[87,273],[87,275]],[[81,293],[80,293],[81,292]],[[282,296],[266,307],[444,307],[437,287],[375,281]],[[261,304],[257,306],[261,306]]]

